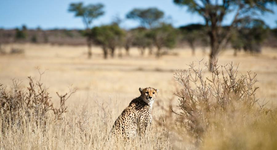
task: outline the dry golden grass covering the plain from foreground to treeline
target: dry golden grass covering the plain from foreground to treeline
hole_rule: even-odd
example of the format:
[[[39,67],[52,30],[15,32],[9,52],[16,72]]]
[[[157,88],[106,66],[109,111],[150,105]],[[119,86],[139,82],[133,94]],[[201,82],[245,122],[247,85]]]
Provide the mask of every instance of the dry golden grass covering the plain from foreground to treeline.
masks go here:
[[[22,47],[26,49],[25,55],[1,56],[0,59],[0,83],[3,83],[2,87],[7,85],[6,88],[2,88],[6,95],[10,95],[13,89],[18,89],[22,93],[28,92],[29,82],[26,84],[24,78],[32,75],[39,80],[36,66],[49,69],[41,81],[42,89],[49,92],[53,109],[58,110],[60,103],[56,91],[66,93],[66,86],[70,84],[79,89],[65,101],[67,112],[62,113],[60,117],[56,117],[52,109],[47,111],[46,117],[38,117],[41,112],[30,117],[22,113],[21,108],[17,113],[19,117],[11,124],[3,121],[1,114],[0,124],[5,125],[0,133],[0,149],[276,149],[275,104],[270,105],[270,108],[260,109],[259,104],[263,104],[258,101],[259,104],[255,102],[255,106],[249,108],[239,101],[233,101],[232,98],[237,97],[231,94],[233,103],[226,105],[224,110],[214,107],[214,103],[209,105],[214,107],[214,110],[207,111],[206,114],[204,112],[207,109],[202,109],[205,107],[197,109],[201,110],[201,115],[194,117],[203,120],[195,124],[202,130],[197,136],[194,130],[187,128],[188,119],[192,119],[191,117],[184,118],[182,114],[180,116],[171,112],[170,105],[173,111],[182,113],[180,107],[176,107],[179,104],[182,106],[182,103],[173,93],[185,87],[174,81],[174,72],[175,69],[190,68],[185,64],[196,59],[188,56],[190,51],[176,50],[179,56],[164,56],[156,60],[151,56],[141,58],[138,51],[132,50],[131,58],[136,58],[135,60],[123,57],[103,61],[100,58],[85,60],[86,47]],[[100,55],[100,52],[99,49],[98,54],[96,48],[94,57]],[[255,85],[260,88],[254,92],[261,100],[266,97],[265,102],[269,100],[270,104],[271,101],[275,103],[276,99],[274,57],[277,53],[273,50],[265,52],[260,56],[238,54],[237,58],[233,58],[227,51],[219,57],[219,64],[241,62],[238,77],[247,75],[249,70],[257,72],[256,78],[259,82]],[[202,57],[202,54],[196,53],[196,56]],[[206,57],[203,61],[207,61]],[[199,65],[199,68],[205,68],[205,65]],[[223,73],[227,75],[226,70]],[[194,75],[195,73],[192,73],[192,77],[195,77]],[[205,77],[211,78],[212,75],[206,71],[203,79],[206,79]],[[15,88],[10,78],[21,79],[22,84]],[[221,75],[220,79],[223,79]],[[195,85],[200,86],[201,82],[197,81]],[[195,85],[191,84],[191,89],[196,88]],[[159,88],[161,92],[154,103],[154,120],[146,131],[147,136],[138,137],[127,143],[108,139],[107,134],[115,119],[131,99],[139,96],[138,88],[148,86]],[[39,86],[34,91],[39,92]],[[215,98],[211,99],[214,100]],[[38,124],[38,119],[43,123]]]

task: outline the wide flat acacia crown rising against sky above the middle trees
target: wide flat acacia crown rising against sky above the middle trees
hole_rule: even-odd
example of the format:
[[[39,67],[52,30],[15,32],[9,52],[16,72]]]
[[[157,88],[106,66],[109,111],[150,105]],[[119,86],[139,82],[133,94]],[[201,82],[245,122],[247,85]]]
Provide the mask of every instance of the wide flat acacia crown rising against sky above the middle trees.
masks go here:
[[[153,28],[163,18],[163,11],[157,8],[139,9],[135,8],[127,13],[127,19],[139,21],[140,26],[143,28]]]

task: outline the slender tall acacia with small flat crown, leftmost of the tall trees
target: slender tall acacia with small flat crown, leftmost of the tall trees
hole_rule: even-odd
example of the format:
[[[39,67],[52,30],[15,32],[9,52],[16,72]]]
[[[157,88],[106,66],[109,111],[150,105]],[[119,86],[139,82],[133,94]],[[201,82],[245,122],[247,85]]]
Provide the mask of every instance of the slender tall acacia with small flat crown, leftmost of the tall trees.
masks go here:
[[[88,58],[91,58],[91,46],[92,46],[92,36],[91,36],[91,25],[93,20],[102,16],[104,14],[103,4],[89,4],[84,6],[82,2],[71,3],[68,11],[75,13],[75,17],[82,17],[82,21],[85,24],[86,31],[85,36],[87,37],[87,46],[88,46]]]

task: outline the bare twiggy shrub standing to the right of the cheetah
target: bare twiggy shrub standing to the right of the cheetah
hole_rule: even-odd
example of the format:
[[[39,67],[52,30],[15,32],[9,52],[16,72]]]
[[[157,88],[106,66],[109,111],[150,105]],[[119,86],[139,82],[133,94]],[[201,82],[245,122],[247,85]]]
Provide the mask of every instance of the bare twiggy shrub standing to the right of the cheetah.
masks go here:
[[[208,70],[207,63],[204,63],[204,69],[200,68],[201,61],[198,68],[191,63],[189,69],[177,70],[174,76],[183,88],[175,93],[180,112],[173,111],[172,107],[171,110],[179,116],[176,124],[195,137],[196,144],[203,141],[203,134],[212,126],[211,118],[223,113],[231,118],[232,112],[240,107],[246,110],[241,115],[247,115],[258,101],[255,96],[258,89],[255,86],[256,73],[239,74],[233,63],[219,66],[217,62],[212,70]],[[205,77],[206,71],[211,71],[211,77]]]

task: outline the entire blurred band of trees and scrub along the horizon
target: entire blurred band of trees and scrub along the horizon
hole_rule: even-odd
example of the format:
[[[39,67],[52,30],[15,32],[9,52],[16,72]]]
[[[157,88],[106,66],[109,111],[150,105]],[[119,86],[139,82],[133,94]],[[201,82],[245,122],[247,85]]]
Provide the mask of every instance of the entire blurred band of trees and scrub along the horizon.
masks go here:
[[[165,16],[163,10],[156,7],[133,8],[125,18],[115,16],[109,24],[95,26],[94,21],[105,14],[102,3],[87,4],[70,3],[68,12],[82,19],[84,30],[47,30],[40,28],[28,30],[26,26],[14,30],[0,30],[1,43],[32,42],[52,44],[85,44],[88,47],[88,58],[92,58],[92,46],[102,48],[103,57],[120,55],[124,47],[129,55],[130,47],[138,47],[143,55],[156,54],[157,58],[167,54],[174,47],[188,46],[192,55],[196,47],[209,47],[210,71],[213,71],[219,52],[226,49],[250,53],[260,53],[262,46],[277,47],[277,29],[270,29],[261,18],[262,14],[274,13],[276,0],[263,1],[196,1],[173,0],[176,6],[187,7],[188,12],[196,13],[204,20],[204,24],[189,24],[175,28],[172,21]],[[232,21],[223,25],[223,21],[232,14]],[[139,26],[126,30],[120,28],[125,19],[137,21]],[[186,19],[186,18],[184,18]],[[205,52],[205,51],[203,51]]]

